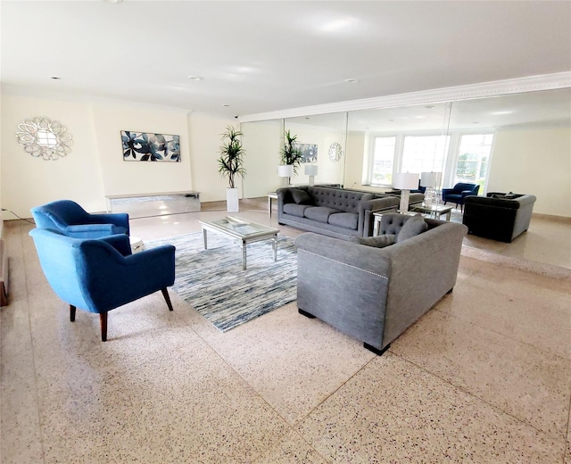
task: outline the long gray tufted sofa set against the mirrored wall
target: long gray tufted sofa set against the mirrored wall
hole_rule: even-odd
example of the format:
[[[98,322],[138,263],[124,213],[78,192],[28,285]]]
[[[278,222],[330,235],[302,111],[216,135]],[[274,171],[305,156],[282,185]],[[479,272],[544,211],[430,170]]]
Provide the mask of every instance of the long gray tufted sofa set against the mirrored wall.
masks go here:
[[[422,194],[411,194],[410,204]],[[372,236],[377,211],[396,211],[401,199],[329,186],[288,186],[277,189],[277,222],[309,232],[348,240]]]

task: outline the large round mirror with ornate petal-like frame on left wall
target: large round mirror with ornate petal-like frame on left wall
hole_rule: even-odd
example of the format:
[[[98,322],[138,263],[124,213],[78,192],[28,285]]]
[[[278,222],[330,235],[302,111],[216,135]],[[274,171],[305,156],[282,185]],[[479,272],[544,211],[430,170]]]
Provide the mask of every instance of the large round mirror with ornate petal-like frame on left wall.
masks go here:
[[[18,143],[24,145],[24,151],[44,160],[57,160],[71,152],[73,145],[68,129],[57,120],[34,118],[24,120],[16,132]]]

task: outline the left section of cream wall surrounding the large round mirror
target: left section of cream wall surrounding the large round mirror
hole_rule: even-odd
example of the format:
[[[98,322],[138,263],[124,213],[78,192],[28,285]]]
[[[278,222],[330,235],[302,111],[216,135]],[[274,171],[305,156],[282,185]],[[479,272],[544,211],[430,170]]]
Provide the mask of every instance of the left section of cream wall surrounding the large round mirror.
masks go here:
[[[103,211],[100,160],[93,117],[87,104],[21,95],[2,96],[2,207],[23,218],[30,208],[70,198],[90,211]],[[73,137],[71,153],[57,161],[33,158],[18,144],[16,131],[24,119],[44,116],[58,120]],[[14,219],[4,214],[4,220]]]

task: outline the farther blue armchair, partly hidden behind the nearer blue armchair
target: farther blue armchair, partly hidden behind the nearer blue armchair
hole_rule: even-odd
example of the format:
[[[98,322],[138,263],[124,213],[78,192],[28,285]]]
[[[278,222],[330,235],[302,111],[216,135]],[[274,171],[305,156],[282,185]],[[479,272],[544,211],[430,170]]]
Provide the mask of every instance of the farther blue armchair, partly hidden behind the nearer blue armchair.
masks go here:
[[[78,203],[58,200],[32,208],[37,228],[52,228],[76,238],[129,235],[128,214],[90,214]]]

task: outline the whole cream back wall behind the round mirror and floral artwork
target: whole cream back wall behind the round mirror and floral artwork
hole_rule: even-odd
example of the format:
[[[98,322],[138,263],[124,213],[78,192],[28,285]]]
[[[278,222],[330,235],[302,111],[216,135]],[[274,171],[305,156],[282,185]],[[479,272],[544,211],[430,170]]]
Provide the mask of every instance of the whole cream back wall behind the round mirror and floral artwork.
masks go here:
[[[16,140],[24,119],[45,116],[65,125],[71,153],[46,162],[24,152]],[[226,179],[216,159],[228,120],[176,108],[127,103],[77,102],[2,95],[0,198],[2,207],[23,218],[38,204],[68,198],[87,211],[105,211],[105,195],[201,192],[201,201],[226,199]],[[181,162],[125,162],[120,130],[180,136]],[[195,170],[195,171],[194,171]],[[14,219],[9,213],[4,220]]]

